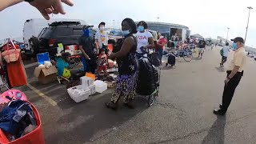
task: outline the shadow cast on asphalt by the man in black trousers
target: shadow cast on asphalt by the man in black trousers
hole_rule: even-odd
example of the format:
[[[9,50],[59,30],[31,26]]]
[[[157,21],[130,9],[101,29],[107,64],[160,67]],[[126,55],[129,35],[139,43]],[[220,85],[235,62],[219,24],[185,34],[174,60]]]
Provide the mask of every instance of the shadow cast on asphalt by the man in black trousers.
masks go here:
[[[202,144],[224,144],[226,116],[218,116]]]

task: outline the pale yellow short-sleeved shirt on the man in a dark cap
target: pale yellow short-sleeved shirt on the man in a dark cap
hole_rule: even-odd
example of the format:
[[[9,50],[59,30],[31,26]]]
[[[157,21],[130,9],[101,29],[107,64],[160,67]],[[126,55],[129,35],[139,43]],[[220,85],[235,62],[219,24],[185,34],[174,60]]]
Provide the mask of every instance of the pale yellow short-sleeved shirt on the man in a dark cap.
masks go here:
[[[246,50],[242,47],[234,52],[234,56],[230,61],[229,70],[233,70],[234,66],[239,66],[238,72],[242,72],[246,65]]]

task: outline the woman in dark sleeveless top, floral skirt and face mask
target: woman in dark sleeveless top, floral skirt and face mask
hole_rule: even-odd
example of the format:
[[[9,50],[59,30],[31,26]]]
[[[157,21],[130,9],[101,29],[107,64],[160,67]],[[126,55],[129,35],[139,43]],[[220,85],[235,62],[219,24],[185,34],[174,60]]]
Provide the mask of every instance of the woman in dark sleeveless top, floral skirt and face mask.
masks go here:
[[[114,94],[106,106],[114,110],[118,108],[121,96],[124,97],[125,106],[134,108],[132,100],[136,94],[138,78],[138,62],[135,57],[138,42],[133,35],[137,33],[137,27],[132,19],[126,18],[122,21],[122,33],[124,38],[120,50],[110,54],[110,59],[116,58],[118,62],[118,79]]]

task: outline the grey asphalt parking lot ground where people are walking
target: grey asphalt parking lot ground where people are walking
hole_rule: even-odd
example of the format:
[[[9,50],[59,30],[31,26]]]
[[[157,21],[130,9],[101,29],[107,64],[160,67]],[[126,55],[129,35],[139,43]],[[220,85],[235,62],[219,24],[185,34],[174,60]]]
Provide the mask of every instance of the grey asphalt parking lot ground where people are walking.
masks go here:
[[[256,143],[256,62],[248,58],[245,75],[226,117],[212,114],[221,102],[226,68],[218,68],[220,48],[206,50],[202,60],[179,59],[175,69],[162,70],[154,106],[135,99],[136,109],[104,106],[113,90],[75,103],[66,86],[41,85],[35,65],[26,67],[30,85],[20,89],[37,106],[46,143]]]

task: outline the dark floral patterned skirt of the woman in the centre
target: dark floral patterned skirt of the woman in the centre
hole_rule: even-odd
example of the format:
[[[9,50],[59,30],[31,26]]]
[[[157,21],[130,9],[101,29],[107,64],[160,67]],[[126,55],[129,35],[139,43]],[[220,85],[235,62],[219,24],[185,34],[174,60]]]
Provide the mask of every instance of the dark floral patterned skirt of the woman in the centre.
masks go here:
[[[131,75],[118,75],[117,86],[112,94],[111,102],[117,103],[121,96],[124,97],[124,103],[134,99],[136,94],[138,72]]]

